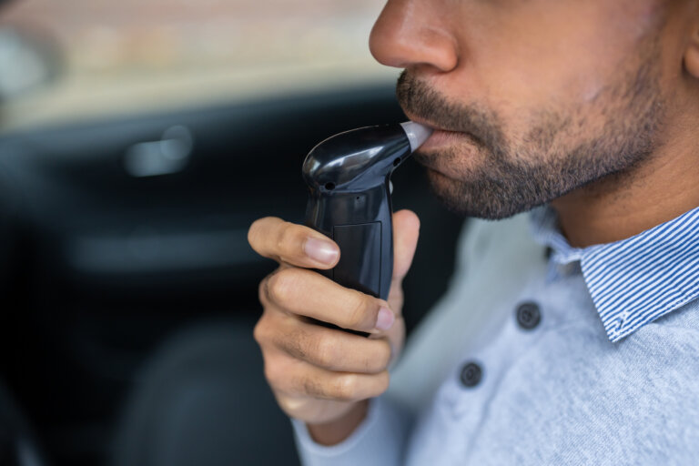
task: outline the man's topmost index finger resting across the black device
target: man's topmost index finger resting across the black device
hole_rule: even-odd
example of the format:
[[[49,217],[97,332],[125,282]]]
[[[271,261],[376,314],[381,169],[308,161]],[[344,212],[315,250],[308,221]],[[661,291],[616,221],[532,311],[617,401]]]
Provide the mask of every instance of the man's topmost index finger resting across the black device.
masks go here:
[[[248,230],[248,243],[265,258],[303,268],[333,268],[339,248],[313,228],[266,217],[255,220]]]

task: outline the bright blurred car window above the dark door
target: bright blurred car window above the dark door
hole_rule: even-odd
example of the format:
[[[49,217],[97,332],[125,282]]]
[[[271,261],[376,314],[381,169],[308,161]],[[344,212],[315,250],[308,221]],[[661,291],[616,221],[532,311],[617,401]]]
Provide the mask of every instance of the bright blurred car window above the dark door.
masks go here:
[[[389,81],[380,0],[15,0],[0,131]]]

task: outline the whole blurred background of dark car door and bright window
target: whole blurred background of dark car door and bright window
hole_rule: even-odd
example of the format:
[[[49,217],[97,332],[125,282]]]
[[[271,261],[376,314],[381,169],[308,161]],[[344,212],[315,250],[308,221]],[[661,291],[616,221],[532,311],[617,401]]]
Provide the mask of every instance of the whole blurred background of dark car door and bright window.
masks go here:
[[[383,2],[0,3],[0,465],[298,464],[247,230],[302,221],[317,142],[405,119]],[[417,164],[393,183],[422,221],[410,331],[462,220]]]

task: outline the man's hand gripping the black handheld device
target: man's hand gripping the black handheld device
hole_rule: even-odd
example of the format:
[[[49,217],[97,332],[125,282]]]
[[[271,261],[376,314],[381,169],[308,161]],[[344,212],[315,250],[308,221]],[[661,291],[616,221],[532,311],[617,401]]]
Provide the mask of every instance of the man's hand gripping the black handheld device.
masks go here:
[[[403,346],[401,289],[418,242],[420,220],[393,215],[394,265],[388,301],[341,287],[309,268],[333,268],[339,248],[329,238],[280,218],[260,218],[248,231],[258,254],[279,262],[259,285],[264,311],[255,339],[279,406],[304,420],[316,441],[344,440],[364,418],[366,402],[389,387],[388,367]],[[360,337],[311,323],[370,333]]]

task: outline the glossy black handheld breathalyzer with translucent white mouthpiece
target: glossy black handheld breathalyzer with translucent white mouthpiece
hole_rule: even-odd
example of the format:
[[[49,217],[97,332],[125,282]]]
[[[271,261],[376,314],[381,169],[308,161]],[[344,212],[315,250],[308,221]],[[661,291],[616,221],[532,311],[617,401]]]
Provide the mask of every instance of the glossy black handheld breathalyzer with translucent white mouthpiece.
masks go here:
[[[329,137],[303,163],[309,187],[306,226],[332,238],[339,262],[320,273],[387,299],[393,273],[390,175],[431,135],[406,122],[361,127]]]

